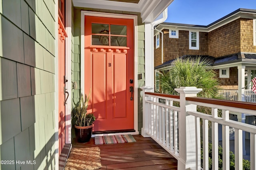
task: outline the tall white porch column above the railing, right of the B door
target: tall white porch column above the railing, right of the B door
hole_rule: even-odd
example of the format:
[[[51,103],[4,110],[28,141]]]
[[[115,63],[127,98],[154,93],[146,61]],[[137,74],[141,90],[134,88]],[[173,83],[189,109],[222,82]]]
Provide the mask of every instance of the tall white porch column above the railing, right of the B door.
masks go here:
[[[145,23],[145,86],[154,87],[154,31]]]

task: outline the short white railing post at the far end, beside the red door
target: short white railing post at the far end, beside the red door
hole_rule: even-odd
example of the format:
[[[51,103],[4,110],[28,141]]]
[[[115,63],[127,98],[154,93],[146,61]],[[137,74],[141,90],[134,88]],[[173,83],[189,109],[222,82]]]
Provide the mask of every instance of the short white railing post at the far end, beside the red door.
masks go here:
[[[140,89],[142,89],[142,116],[143,116],[143,122],[142,122],[142,128],[141,128],[141,135],[143,137],[149,137],[148,134],[146,134],[146,132],[149,131],[149,124],[148,124],[148,119],[149,119],[149,113],[150,113],[150,108],[149,108],[149,103],[146,103],[146,96],[145,96],[145,92],[146,91],[151,91],[152,89],[154,89],[153,87],[140,87]]]

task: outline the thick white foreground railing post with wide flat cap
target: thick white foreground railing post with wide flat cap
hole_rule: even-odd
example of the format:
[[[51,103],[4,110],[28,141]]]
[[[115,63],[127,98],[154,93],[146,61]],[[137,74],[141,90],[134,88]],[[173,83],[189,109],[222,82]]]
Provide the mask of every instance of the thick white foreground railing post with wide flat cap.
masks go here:
[[[196,127],[194,116],[187,115],[187,111],[196,111],[196,105],[186,103],[186,97],[196,97],[202,91],[196,87],[180,87],[175,89],[180,93],[179,114],[179,153],[178,169],[189,170],[196,167]]]

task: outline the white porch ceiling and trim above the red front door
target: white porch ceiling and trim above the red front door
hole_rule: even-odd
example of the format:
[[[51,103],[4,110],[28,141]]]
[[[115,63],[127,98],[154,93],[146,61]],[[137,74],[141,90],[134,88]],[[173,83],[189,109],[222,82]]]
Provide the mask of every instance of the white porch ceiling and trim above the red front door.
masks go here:
[[[142,22],[153,22],[173,0],[73,0],[74,7],[140,12]]]

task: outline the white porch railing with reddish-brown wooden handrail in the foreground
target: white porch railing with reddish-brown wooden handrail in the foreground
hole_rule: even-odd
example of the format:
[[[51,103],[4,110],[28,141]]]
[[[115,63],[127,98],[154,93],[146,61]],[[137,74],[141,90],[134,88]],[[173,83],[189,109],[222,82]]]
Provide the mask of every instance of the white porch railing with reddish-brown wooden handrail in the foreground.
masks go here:
[[[218,170],[218,124],[222,125],[223,169],[230,169],[230,127],[235,129],[235,169],[242,170],[243,131],[250,133],[250,168],[256,170],[256,126],[229,120],[229,111],[256,115],[256,103],[195,97],[202,89],[181,87],[180,96],[143,90],[142,135],[150,136],[178,160],[178,170],[208,170],[208,123],[212,126],[212,169]],[[178,102],[180,107],[174,106]],[[211,108],[211,115],[196,106]],[[218,117],[218,109],[222,117]],[[201,124],[200,124],[201,122]],[[201,131],[202,130],[202,131]],[[201,136],[202,134],[202,136]],[[201,142],[203,166],[201,167]]]

